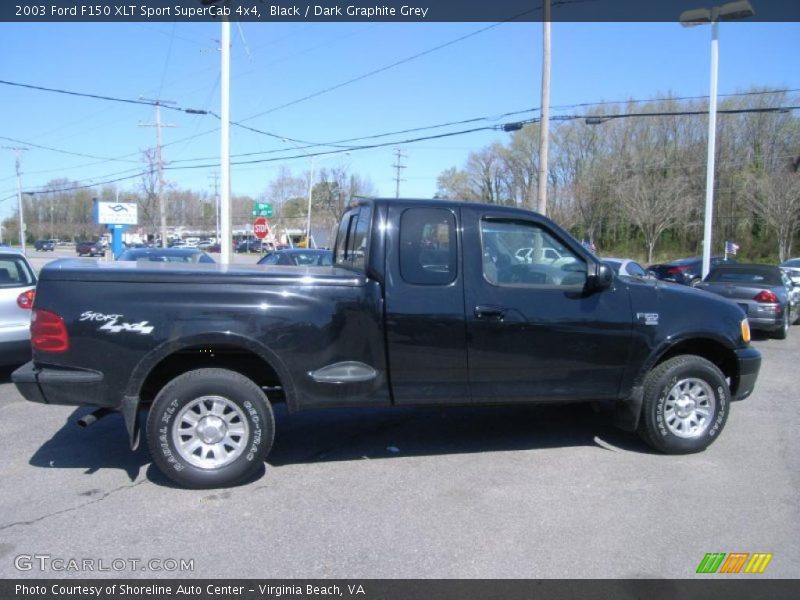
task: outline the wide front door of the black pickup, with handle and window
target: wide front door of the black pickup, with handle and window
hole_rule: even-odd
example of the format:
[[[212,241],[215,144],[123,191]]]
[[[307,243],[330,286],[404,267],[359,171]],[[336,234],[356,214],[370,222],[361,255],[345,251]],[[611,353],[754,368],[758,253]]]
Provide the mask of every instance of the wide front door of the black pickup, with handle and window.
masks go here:
[[[618,395],[632,331],[627,290],[585,292],[591,259],[545,219],[462,212],[473,401]]]

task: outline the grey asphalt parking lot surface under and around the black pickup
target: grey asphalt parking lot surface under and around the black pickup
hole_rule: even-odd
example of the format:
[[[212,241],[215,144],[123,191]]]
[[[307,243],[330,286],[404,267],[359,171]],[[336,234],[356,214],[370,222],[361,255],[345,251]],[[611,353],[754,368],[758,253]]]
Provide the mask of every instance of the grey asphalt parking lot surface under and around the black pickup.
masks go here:
[[[5,371],[0,577],[680,579],[764,552],[752,577],[797,578],[800,325],[754,344],[756,391],[700,454],[654,454],[589,406],[279,409],[264,473],[213,491],[172,486],[118,416],[82,430],[86,409],[28,403]]]

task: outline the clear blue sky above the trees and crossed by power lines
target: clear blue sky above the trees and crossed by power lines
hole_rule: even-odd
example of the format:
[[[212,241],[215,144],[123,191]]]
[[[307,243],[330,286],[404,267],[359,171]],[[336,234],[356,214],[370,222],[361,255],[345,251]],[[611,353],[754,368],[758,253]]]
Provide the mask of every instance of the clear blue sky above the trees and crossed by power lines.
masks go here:
[[[219,113],[219,37],[216,23],[0,23],[0,80]],[[551,104],[707,95],[710,39],[708,26],[553,23]],[[800,23],[722,23],[719,48],[721,94],[800,89]],[[269,161],[234,165],[233,194],[258,198],[281,167],[301,175],[311,165],[307,154],[335,150],[303,149],[304,142],[481,119],[356,141],[389,145],[314,159],[315,169],[347,167],[379,195],[394,196],[400,148],[400,195],[425,198],[435,194],[442,171],[510,134],[403,142],[536,116],[502,115],[540,105],[542,25],[241,23],[232,27],[231,61],[231,120],[273,134],[232,128],[234,162]],[[154,122],[152,106],[4,84],[0,99],[0,146],[28,148],[24,190],[58,178],[93,183],[135,175],[145,167],[142,151],[155,145],[155,128],[141,126]],[[170,125],[162,129],[167,181],[209,192],[219,171],[219,120],[165,108],[162,122]],[[0,150],[0,218],[16,206],[14,161],[12,150]],[[197,168],[181,168],[187,166]],[[138,184],[116,183],[123,191]]]

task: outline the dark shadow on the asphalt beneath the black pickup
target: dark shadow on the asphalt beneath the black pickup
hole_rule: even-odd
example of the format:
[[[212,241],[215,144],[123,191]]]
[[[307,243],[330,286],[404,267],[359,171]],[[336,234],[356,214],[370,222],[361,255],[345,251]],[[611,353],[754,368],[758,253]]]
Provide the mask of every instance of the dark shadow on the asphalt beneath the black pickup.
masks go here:
[[[87,429],[76,409],[31,457],[42,468],[122,469],[131,481],[151,463],[144,431],[139,448],[128,447],[122,417],[110,415]],[[144,413],[142,427],[144,428]],[[276,410],[277,434],[267,462],[273,467],[325,461],[537,450],[570,446],[649,452],[634,434],[619,431],[588,405]],[[155,466],[146,476],[172,486]]]

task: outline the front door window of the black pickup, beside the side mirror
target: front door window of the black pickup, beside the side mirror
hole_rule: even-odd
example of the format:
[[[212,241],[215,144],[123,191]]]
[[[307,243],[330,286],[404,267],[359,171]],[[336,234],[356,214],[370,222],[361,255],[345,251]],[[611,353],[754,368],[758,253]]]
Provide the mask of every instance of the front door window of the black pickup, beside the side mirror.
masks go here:
[[[493,285],[583,287],[586,261],[527,221],[481,220],[483,276]]]

